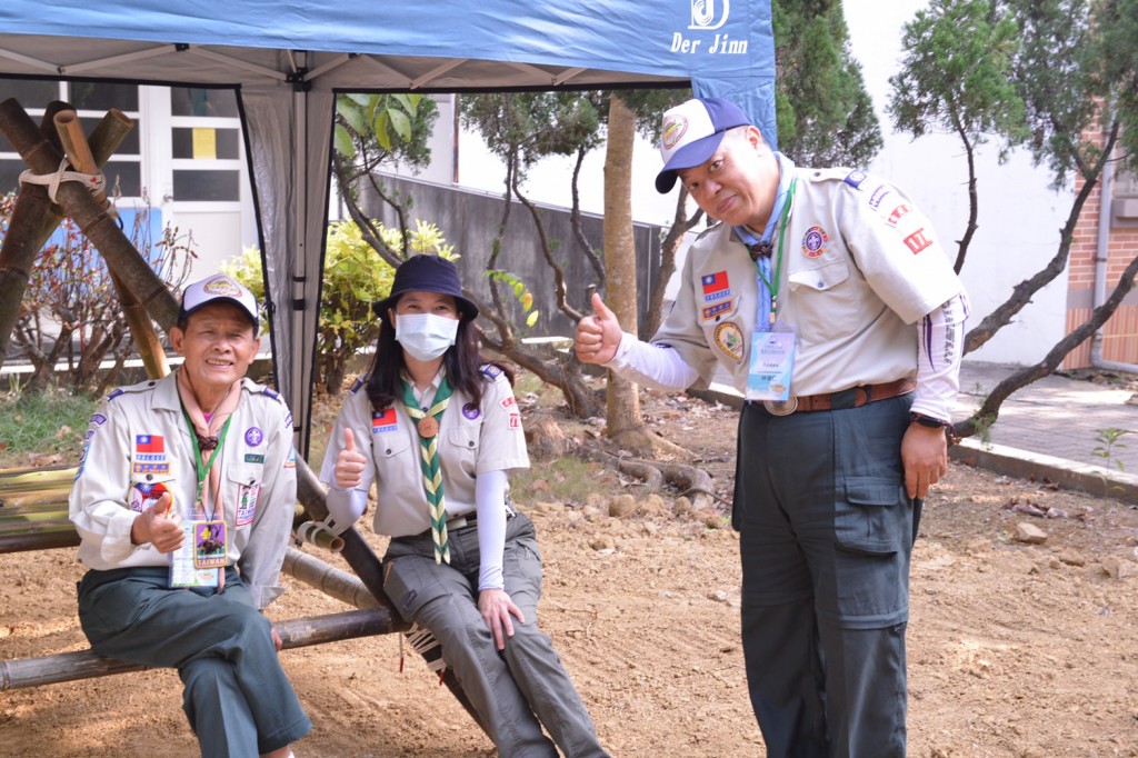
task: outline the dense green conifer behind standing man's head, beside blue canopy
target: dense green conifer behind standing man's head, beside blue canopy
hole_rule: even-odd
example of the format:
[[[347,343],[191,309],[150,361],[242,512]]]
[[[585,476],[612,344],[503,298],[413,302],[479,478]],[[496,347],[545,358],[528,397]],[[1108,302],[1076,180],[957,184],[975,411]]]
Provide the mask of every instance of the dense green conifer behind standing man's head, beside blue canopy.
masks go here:
[[[806,166],[864,166],[881,129],[840,0],[772,0],[778,149]]]

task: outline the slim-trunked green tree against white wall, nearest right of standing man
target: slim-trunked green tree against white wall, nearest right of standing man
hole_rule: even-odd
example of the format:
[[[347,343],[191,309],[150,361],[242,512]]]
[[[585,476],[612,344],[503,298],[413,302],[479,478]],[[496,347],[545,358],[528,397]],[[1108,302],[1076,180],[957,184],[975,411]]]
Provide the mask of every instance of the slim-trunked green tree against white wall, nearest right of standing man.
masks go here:
[[[933,0],[905,25],[906,56],[889,82],[889,113],[898,130],[913,137],[955,134],[968,164],[968,221],[957,242],[957,273],[976,231],[975,151],[1000,137],[1003,163],[1030,132],[1024,104],[1012,81],[1020,30],[993,0]]]

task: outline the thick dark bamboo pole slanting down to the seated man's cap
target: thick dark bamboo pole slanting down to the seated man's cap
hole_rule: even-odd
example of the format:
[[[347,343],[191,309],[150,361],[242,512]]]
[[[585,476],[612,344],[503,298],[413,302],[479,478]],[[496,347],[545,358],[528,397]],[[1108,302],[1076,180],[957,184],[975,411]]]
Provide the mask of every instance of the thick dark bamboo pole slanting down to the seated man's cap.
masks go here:
[[[59,168],[63,160],[59,150],[40,133],[15,98],[0,102],[0,132],[35,173],[50,174]],[[98,248],[107,266],[139,296],[150,316],[168,332],[178,322],[178,300],[138,254],[114,219],[77,182],[60,183],[56,198]]]

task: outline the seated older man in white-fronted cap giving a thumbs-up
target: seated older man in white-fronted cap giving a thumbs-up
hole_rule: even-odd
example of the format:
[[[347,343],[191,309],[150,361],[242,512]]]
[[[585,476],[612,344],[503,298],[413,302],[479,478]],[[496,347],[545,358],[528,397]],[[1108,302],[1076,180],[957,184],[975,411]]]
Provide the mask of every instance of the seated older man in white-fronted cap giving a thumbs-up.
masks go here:
[[[181,368],[91,417],[71,494],[91,649],[178,669],[203,756],[291,756],[312,723],[258,611],[281,592],[296,506],[292,417],[245,379],[257,302],[223,274],[185,288]]]

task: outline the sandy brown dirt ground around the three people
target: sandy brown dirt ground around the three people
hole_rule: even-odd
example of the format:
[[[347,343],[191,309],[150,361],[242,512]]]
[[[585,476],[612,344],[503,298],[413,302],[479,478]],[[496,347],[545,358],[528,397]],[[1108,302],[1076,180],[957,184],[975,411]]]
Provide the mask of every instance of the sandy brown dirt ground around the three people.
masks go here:
[[[729,497],[733,411],[645,395],[644,413]],[[559,421],[570,438],[595,432]],[[621,757],[764,756],[743,676],[739,541],[725,506],[684,513],[675,493],[649,496],[600,465],[595,478],[586,502],[559,499],[554,480],[538,481],[519,504],[544,553],[541,624],[603,743]],[[619,492],[635,495],[635,514],[608,514]],[[1032,508],[1054,518],[1023,512]],[[1019,542],[1022,522],[1047,541]],[[382,550],[382,538],[362,533]],[[956,463],[926,503],[921,535],[909,755],[1138,756],[1138,510]],[[74,550],[0,555],[0,659],[85,648]],[[286,584],[270,608],[274,619],[348,610]],[[401,674],[396,635],[282,652],[315,724],[298,758],[495,755],[407,653]],[[180,692],[173,670],[0,692],[0,755],[197,755]]]

